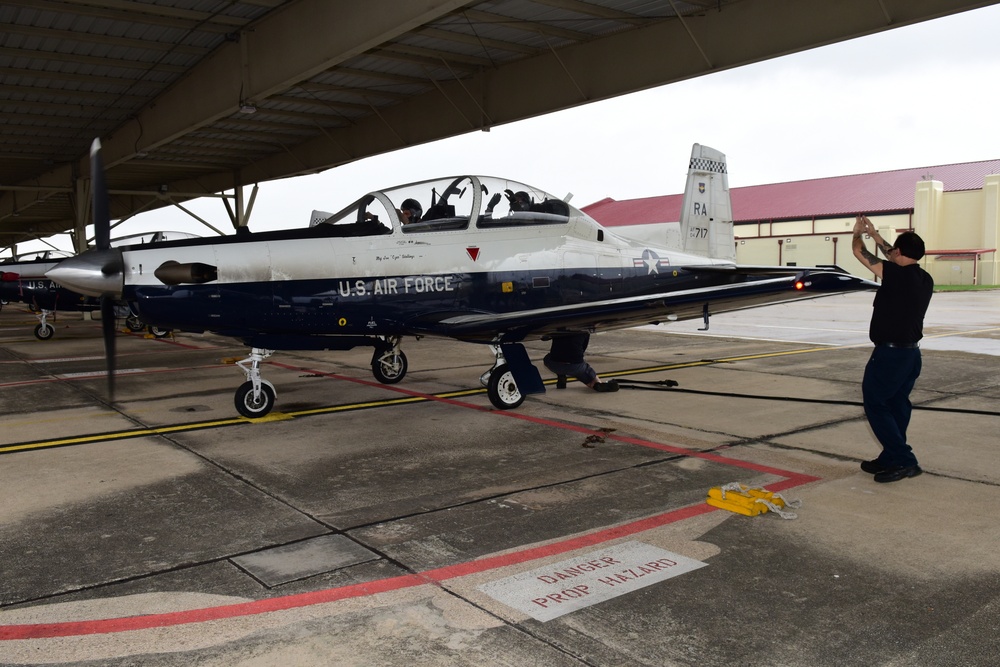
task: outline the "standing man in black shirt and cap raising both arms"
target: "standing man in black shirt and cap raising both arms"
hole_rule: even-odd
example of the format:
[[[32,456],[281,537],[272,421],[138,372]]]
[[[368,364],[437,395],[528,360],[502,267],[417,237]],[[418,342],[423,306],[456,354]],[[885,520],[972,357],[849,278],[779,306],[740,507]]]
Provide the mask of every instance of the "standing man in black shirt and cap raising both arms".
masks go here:
[[[875,240],[886,261],[868,251],[862,234]],[[852,250],[859,262],[882,279],[868,328],[875,349],[861,383],[865,416],[882,444],[882,453],[862,462],[861,469],[873,473],[876,482],[895,482],[923,472],[906,442],[906,428],[912,411],[910,392],[921,368],[918,341],[923,337],[924,314],[934,291],[934,279],[920,267],[924,242],[914,232],[903,232],[890,246],[871,221],[859,215]]]

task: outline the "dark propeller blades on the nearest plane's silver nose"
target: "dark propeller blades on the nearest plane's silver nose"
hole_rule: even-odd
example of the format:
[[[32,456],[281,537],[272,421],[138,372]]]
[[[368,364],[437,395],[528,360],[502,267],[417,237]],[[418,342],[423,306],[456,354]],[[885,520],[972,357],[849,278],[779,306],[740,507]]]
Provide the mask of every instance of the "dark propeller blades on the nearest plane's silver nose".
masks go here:
[[[108,203],[108,184],[101,160],[101,141],[94,139],[90,147],[90,178],[94,221],[94,245],[100,259],[101,273],[106,278],[121,275],[124,267],[120,253],[111,251],[111,213]],[[115,401],[115,298],[104,291],[101,294],[101,330],[104,335],[104,356],[108,369],[108,400]]]

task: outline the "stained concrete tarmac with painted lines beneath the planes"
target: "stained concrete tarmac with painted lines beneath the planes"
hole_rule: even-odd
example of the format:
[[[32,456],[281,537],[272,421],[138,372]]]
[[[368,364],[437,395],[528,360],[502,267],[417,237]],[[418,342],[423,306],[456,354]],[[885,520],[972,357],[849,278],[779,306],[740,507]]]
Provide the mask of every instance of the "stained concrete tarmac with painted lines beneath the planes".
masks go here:
[[[891,484],[871,298],[601,334],[622,391],[542,369],[513,411],[485,347],[408,339],[391,386],[278,353],[255,421],[228,339],[119,335],[112,404],[97,323],[7,305],[0,665],[995,665],[1000,293],[935,294]],[[705,502],[730,483],[797,517]]]

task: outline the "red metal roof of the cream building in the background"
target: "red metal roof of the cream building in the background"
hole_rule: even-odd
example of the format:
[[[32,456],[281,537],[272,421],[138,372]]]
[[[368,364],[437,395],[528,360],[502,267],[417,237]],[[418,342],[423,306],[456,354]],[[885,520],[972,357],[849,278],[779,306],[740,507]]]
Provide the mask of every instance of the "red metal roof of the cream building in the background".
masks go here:
[[[916,184],[941,181],[945,192],[978,190],[1000,174],[1000,160],[915,167],[853,176],[732,188],[733,218],[741,222],[802,220],[857,213],[912,211]],[[680,220],[684,195],[615,201],[602,199],[584,211],[607,227]]]

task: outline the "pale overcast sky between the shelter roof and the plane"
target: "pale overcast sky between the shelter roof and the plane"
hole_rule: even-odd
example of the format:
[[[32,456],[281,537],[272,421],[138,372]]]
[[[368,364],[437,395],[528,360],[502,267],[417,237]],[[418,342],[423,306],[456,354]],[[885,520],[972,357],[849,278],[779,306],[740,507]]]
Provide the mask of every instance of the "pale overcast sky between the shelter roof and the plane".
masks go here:
[[[313,209],[465,173],[573,193],[577,206],[675,194],[693,143],[727,155],[731,187],[997,159],[998,31],[994,5],[264,183],[250,228],[305,226]],[[186,206],[231,232],[217,200]],[[212,233],[163,209],[112,236],[156,229]]]

